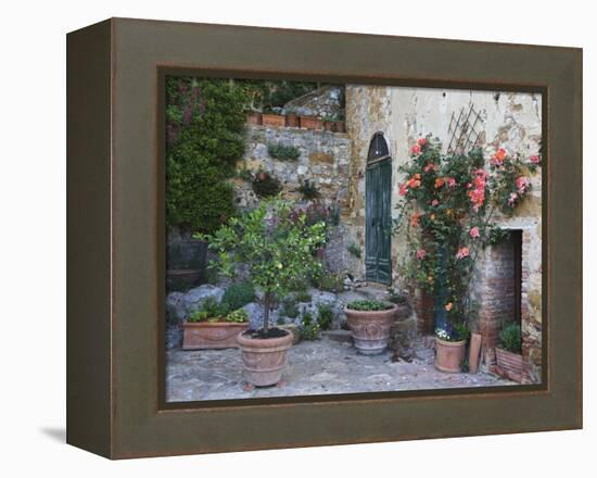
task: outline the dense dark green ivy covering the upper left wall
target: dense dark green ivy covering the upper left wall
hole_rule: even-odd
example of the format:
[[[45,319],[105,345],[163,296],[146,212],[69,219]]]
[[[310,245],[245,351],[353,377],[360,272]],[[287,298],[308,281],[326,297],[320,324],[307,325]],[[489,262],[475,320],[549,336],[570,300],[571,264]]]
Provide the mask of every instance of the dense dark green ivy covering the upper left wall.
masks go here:
[[[166,79],[166,219],[209,234],[234,214],[227,179],[244,153],[246,102],[226,79]]]

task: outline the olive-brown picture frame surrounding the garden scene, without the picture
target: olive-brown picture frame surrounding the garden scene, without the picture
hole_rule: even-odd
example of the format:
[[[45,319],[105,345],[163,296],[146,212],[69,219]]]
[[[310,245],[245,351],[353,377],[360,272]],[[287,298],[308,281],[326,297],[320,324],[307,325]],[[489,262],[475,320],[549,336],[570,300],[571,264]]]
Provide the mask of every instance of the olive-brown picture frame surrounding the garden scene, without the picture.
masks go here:
[[[166,74],[541,91],[541,386],[164,401]],[[582,50],[112,18],[67,36],[67,441],[111,458],[582,427]]]

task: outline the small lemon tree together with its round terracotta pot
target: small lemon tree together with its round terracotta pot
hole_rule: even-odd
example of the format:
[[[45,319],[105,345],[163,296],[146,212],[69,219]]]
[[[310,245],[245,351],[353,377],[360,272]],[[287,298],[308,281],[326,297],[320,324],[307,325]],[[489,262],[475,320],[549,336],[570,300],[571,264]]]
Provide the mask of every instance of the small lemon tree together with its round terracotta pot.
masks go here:
[[[317,250],[325,244],[326,224],[307,224],[303,211],[276,198],[258,207],[232,217],[209,238],[209,248],[218,254],[214,263],[228,277],[241,266],[249,280],[261,290],[263,325],[239,334],[246,380],[257,387],[280,381],[287,352],[293,341],[289,330],[269,326],[269,313],[301,280],[308,280],[322,264]]]

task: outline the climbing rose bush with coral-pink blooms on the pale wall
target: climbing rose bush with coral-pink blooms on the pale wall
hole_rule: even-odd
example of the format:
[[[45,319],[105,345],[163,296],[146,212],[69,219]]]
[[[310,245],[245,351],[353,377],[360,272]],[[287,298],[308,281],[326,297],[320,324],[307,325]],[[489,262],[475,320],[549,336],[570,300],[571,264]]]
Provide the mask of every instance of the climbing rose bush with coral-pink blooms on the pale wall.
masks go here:
[[[446,335],[461,330],[473,310],[468,292],[480,249],[503,237],[492,222],[495,210],[515,211],[539,164],[538,155],[524,161],[504,148],[488,162],[481,149],[442,154],[439,139],[428,136],[412,146],[410,161],[399,168],[405,180],[398,188],[395,231],[407,229],[406,272],[445,304]]]

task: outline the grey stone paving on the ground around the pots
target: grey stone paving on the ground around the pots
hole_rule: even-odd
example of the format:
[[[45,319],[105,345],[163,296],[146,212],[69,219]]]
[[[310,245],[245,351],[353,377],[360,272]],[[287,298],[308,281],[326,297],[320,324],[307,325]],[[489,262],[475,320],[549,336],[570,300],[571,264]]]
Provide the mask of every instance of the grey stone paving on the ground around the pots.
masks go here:
[[[518,385],[488,374],[444,374],[433,366],[433,350],[416,344],[411,363],[393,362],[392,353],[360,355],[350,343],[321,338],[290,349],[282,381],[247,387],[241,352],[229,350],[167,352],[166,400],[226,400],[397,390]]]

